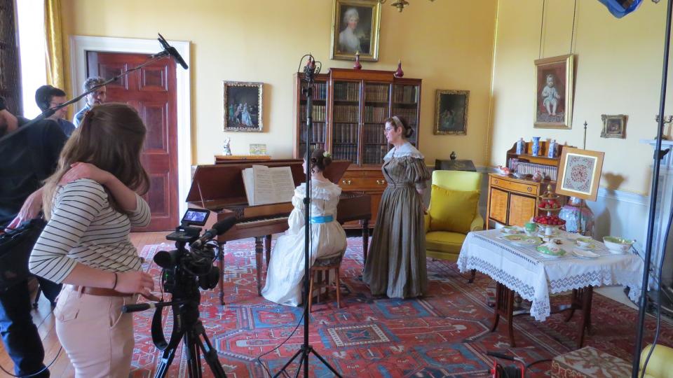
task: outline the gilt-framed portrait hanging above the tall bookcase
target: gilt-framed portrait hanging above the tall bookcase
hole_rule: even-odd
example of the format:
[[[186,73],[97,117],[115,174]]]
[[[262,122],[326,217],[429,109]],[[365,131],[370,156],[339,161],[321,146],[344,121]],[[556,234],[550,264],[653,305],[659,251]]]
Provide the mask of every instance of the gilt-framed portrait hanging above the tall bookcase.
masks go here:
[[[379,61],[381,3],[376,0],[334,0],[331,59]]]

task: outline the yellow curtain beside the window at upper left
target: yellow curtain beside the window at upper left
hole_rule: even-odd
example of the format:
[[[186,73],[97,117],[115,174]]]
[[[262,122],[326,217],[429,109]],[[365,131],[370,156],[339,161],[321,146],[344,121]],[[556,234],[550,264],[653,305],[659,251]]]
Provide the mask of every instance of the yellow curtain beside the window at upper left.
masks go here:
[[[61,0],[44,0],[47,82],[65,90],[61,34]]]

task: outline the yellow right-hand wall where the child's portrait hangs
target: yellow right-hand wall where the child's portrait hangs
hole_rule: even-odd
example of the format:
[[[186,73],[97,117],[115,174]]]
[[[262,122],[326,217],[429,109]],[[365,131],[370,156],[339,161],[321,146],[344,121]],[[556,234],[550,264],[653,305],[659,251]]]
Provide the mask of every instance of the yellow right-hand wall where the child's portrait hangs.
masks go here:
[[[569,53],[574,3],[546,1],[542,57]],[[605,152],[601,186],[648,193],[653,149],[639,141],[656,135],[665,1],[643,1],[621,19],[599,1],[577,1],[572,130],[533,129],[533,61],[541,45],[542,8],[539,0],[498,2],[491,164],[505,164],[505,151],[519,137],[553,138],[581,148],[586,120],[587,149]],[[601,138],[601,114],[629,116],[626,139]]]

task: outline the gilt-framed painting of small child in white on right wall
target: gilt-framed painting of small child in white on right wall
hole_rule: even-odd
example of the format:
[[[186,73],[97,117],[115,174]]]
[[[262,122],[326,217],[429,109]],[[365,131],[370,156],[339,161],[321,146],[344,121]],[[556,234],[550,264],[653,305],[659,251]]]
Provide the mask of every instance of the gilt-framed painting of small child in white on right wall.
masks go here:
[[[574,55],[535,61],[534,125],[571,129],[573,126]]]

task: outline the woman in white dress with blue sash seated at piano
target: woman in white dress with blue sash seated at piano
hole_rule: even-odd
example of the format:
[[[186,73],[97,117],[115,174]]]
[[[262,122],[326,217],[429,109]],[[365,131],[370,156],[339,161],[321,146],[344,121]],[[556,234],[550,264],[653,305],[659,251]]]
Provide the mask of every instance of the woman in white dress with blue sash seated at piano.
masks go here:
[[[337,222],[341,188],[325,179],[322,172],[332,162],[329,153],[316,148],[311,153],[311,265],[316,258],[336,256],[346,251],[346,232]],[[304,162],[306,169],[306,162]],[[266,285],[261,295],[287,306],[301,304],[304,279],[304,197],[306,184],[294,190],[294,209],[287,219],[290,228],[280,235],[271,251]]]

